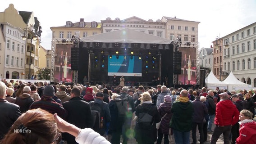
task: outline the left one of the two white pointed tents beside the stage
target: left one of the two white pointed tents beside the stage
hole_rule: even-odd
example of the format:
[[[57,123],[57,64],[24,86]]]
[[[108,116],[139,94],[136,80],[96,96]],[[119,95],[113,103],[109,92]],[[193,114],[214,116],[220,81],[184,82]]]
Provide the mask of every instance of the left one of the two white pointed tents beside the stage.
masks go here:
[[[216,76],[211,71],[210,74],[206,77],[205,80],[207,87],[210,89],[215,89],[216,87],[219,87],[220,89],[226,89],[227,84],[224,84],[222,81],[219,81]]]

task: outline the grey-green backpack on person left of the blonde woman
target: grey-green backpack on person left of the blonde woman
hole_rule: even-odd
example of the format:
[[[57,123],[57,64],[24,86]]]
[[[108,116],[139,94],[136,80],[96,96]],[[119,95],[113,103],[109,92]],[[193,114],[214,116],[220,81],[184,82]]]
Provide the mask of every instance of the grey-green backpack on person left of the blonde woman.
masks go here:
[[[126,95],[121,99],[115,99],[114,101],[118,109],[118,117],[126,117],[126,114],[129,111],[129,95]]]

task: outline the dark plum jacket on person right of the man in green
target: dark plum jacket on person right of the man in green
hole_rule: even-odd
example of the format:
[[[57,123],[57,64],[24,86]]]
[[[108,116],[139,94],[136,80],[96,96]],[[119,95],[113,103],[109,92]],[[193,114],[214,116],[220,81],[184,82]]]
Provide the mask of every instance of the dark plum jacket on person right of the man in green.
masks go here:
[[[203,123],[204,116],[208,113],[205,103],[201,102],[200,99],[192,101],[194,107],[192,122]]]

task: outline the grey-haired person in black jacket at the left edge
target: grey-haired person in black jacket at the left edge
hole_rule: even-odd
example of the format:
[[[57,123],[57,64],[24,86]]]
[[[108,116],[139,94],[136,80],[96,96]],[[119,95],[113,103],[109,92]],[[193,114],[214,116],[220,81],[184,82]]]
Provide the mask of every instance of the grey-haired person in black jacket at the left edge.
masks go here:
[[[14,121],[21,115],[18,105],[5,100],[6,85],[0,81],[0,139],[7,134]]]

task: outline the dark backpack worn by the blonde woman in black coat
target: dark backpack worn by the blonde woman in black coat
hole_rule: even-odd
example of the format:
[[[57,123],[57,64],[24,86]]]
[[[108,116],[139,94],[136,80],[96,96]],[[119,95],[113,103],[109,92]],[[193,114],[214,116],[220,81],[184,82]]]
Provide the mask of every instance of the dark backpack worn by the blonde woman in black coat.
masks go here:
[[[138,128],[143,129],[143,130],[151,130],[151,128],[153,126],[153,122],[152,122],[153,116],[148,114],[150,108],[148,108],[147,112],[143,112],[143,113],[139,114],[139,117],[137,119]]]

